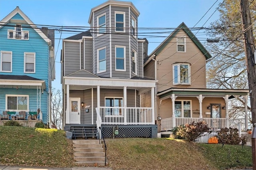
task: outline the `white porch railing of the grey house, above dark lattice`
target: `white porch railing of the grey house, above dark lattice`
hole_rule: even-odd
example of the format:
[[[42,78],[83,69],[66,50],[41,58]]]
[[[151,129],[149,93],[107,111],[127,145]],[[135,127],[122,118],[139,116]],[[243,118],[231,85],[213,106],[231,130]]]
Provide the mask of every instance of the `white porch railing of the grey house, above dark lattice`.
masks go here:
[[[100,107],[99,116],[104,125],[152,125],[151,107]]]

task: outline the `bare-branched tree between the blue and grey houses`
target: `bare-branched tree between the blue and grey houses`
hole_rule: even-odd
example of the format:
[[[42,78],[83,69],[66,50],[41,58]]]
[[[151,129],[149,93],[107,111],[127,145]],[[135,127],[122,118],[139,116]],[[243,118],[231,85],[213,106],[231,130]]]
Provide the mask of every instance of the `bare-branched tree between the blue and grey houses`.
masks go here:
[[[58,129],[62,129],[62,92],[52,88],[52,123],[56,125]]]

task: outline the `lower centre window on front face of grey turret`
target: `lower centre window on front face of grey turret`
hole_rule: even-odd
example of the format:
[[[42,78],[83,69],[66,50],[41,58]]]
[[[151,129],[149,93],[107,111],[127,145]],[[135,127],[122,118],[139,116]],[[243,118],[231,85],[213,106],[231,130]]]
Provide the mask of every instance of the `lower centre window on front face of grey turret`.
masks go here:
[[[125,70],[125,47],[116,46],[116,70]]]

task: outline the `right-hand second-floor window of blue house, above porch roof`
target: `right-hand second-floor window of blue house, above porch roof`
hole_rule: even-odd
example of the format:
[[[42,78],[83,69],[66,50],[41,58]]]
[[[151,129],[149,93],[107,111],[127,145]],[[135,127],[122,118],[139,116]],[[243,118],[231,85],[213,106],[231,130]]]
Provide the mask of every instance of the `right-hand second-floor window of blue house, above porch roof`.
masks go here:
[[[24,72],[36,72],[36,53],[24,53]]]

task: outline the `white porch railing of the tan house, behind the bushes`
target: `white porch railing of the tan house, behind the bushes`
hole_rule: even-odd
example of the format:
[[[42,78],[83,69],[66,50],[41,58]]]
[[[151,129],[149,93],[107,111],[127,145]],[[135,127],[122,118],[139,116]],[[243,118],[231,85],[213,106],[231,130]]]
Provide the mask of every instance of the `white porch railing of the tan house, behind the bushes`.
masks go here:
[[[175,119],[175,127],[184,125],[186,123],[205,121],[210,128],[213,130],[220,130],[221,128],[228,127],[226,125],[226,118],[186,118],[186,117],[170,117],[161,120],[161,131],[170,131],[174,128],[172,125],[172,119]],[[229,127],[238,128],[238,123],[229,119]]]

